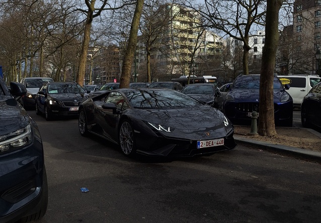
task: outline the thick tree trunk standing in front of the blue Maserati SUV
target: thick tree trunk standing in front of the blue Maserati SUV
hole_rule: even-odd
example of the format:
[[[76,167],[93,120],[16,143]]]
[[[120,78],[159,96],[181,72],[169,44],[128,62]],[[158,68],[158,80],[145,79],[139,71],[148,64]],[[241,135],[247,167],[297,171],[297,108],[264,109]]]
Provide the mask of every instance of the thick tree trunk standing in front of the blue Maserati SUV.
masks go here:
[[[262,54],[260,78],[259,129],[261,136],[275,136],[273,79],[275,57],[279,41],[278,21],[282,0],[267,1],[265,46]]]

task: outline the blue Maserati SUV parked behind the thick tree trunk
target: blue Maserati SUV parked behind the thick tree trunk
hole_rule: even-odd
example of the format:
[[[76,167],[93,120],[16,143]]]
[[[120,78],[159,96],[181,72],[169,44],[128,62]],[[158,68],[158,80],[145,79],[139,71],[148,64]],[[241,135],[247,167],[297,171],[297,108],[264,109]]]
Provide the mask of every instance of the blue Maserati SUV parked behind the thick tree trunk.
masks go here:
[[[239,75],[223,98],[222,112],[233,124],[251,124],[252,112],[259,113],[260,75]],[[276,126],[293,122],[293,100],[279,78],[274,76],[273,101]],[[260,117],[259,117],[260,118]]]

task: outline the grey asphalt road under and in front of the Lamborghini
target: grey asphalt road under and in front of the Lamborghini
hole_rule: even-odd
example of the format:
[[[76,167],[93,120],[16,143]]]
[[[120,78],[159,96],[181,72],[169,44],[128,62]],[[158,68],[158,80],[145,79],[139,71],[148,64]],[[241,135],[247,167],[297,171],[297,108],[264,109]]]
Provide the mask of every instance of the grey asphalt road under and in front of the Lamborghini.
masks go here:
[[[319,163],[242,145],[198,158],[130,159],[82,137],[77,120],[29,114],[48,175],[39,222],[320,222]]]

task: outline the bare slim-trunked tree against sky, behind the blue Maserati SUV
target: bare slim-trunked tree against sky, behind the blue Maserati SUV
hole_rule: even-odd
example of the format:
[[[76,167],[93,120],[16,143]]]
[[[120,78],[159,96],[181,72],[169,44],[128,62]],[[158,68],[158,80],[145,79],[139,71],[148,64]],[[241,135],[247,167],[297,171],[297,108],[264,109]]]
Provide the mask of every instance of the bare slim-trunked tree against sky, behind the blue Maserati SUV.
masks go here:
[[[210,27],[243,43],[243,73],[249,74],[249,38],[254,25],[264,26],[264,0],[205,0],[199,11]]]

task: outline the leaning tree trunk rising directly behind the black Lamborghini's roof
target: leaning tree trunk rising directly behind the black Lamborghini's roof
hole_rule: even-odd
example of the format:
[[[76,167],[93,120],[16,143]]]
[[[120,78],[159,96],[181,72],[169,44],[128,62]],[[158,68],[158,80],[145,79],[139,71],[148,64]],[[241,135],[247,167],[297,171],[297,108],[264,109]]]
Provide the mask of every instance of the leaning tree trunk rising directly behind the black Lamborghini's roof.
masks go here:
[[[134,53],[136,50],[138,25],[140,21],[141,12],[143,9],[143,4],[144,4],[144,0],[137,0],[133,21],[130,27],[127,49],[125,51],[125,56],[123,60],[123,67],[122,67],[120,85],[119,85],[120,88],[129,87],[131,65],[133,63]]]

